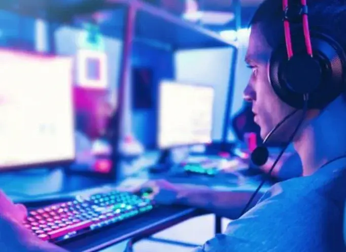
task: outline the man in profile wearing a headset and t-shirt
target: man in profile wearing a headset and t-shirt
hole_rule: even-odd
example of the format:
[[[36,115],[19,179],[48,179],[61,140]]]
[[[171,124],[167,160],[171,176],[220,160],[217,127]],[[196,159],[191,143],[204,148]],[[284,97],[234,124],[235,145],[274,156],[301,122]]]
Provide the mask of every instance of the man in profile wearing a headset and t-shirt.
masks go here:
[[[278,0],[267,0],[261,5],[252,22],[246,57],[253,74],[245,98],[253,103],[262,137],[293,111],[275,95],[267,77],[269,56],[273,48],[283,42],[281,14],[282,4]],[[310,26],[324,29],[346,49],[343,32],[346,4],[343,0],[312,1],[309,3],[309,17]],[[294,138],[294,147],[303,165],[303,176],[273,186],[256,206],[232,221],[225,234],[207,241],[196,248],[196,252],[345,250],[342,237],[346,196],[345,96],[340,94],[322,111],[307,112]],[[289,120],[283,125],[282,132],[291,132],[298,120],[298,117]],[[282,132],[274,135],[272,140],[282,141],[285,137]],[[170,184],[161,183],[161,187],[166,191],[183,193]],[[181,200],[189,202],[188,197]],[[2,241],[4,245],[5,241]]]

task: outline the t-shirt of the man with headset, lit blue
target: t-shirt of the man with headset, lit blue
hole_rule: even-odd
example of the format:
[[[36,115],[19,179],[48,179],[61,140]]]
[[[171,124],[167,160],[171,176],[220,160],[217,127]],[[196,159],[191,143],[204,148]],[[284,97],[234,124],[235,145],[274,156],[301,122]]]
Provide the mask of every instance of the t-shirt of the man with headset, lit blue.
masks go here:
[[[313,175],[274,185],[224,234],[194,252],[342,252],[346,168],[329,166]]]

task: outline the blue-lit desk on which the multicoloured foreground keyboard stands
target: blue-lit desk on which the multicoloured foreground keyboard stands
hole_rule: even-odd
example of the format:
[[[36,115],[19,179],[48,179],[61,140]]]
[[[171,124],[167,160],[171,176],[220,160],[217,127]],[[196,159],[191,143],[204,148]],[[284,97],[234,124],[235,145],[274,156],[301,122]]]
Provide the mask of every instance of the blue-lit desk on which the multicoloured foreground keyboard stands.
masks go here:
[[[145,173],[141,173],[132,178],[128,178],[124,181],[130,181],[131,179],[140,179],[145,181],[148,178],[159,178],[160,176],[148,176]],[[162,176],[161,176],[162,177]],[[187,183],[191,181],[191,178],[169,178],[174,183]],[[217,183],[212,183],[213,178],[199,177],[194,179],[195,184],[204,185],[211,190],[216,190],[223,186],[234,192],[235,200],[231,208],[236,209],[244,207],[244,202],[252,195],[253,191],[257,187],[259,181],[254,183],[251,179],[249,183],[243,183],[239,185],[237,183],[231,183],[229,180],[224,183],[218,180]],[[215,182],[215,181],[214,181]],[[13,199],[21,201],[23,198],[34,199],[37,195],[42,194],[56,194],[61,195],[74,195],[76,192],[71,191],[85,190],[90,187],[97,187],[96,190],[102,190],[102,185],[109,184],[109,181],[101,178],[85,177],[78,174],[66,174],[63,170],[55,169],[51,171],[47,170],[27,170],[19,173],[2,174],[0,176],[0,187],[9,195],[12,195]],[[133,183],[132,183],[133,185]],[[110,185],[112,188],[115,185]],[[106,186],[107,187],[107,186]],[[259,197],[265,192],[264,188]],[[93,191],[93,189],[91,189]],[[25,192],[25,194],[23,193]],[[77,192],[79,194],[79,192]],[[239,195],[241,194],[241,197]],[[151,212],[144,215],[127,220],[124,223],[119,223],[108,229],[100,230],[97,233],[90,233],[86,236],[76,237],[74,239],[65,241],[60,246],[68,249],[69,251],[97,251],[102,248],[106,248],[118,242],[133,238],[139,240],[141,238],[148,237],[154,233],[162,231],[166,228],[174,226],[180,222],[188,220],[192,217],[196,217],[205,212],[202,212],[193,207],[175,206],[175,207],[158,207]],[[216,230],[219,232],[219,230]]]

